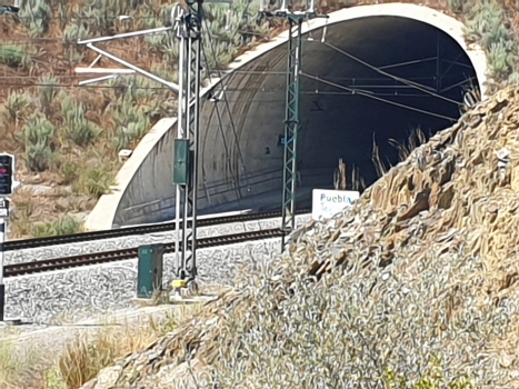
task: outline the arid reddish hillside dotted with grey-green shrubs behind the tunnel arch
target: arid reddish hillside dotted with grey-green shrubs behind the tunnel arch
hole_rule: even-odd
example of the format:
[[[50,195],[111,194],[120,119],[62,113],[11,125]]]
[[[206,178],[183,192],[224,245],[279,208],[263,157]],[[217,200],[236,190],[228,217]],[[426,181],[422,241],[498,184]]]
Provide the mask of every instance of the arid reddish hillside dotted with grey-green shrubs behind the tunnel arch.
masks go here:
[[[322,1],[323,11],[377,1]],[[391,1],[387,1],[391,2]],[[462,19],[467,39],[481,43],[492,68],[491,90],[519,80],[515,71],[515,1],[405,1]],[[79,87],[73,69],[96,53],[78,38],[164,26],[173,1],[22,0],[18,14],[0,16],[0,151],[17,156],[9,238],[76,232],[121,167],[119,150],[133,149],[163,117],[176,116],[176,96],[139,76]],[[213,70],[269,39],[283,27],[258,21],[258,2],[206,4]],[[130,18],[120,18],[128,16]],[[102,44],[147,70],[174,81],[177,48],[167,34]],[[101,66],[113,66],[102,59]]]

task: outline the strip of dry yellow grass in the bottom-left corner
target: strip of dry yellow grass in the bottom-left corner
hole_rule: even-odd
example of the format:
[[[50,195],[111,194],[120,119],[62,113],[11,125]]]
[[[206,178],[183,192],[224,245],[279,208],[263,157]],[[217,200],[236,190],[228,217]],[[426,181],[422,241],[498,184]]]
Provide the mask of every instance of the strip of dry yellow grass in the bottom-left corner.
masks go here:
[[[149,316],[122,323],[107,319],[100,328],[76,330],[73,341],[56,359],[30,342],[14,348],[12,341],[0,339],[0,389],[77,389],[106,366],[147,347],[199,311],[200,305],[191,305],[176,307],[160,319]]]

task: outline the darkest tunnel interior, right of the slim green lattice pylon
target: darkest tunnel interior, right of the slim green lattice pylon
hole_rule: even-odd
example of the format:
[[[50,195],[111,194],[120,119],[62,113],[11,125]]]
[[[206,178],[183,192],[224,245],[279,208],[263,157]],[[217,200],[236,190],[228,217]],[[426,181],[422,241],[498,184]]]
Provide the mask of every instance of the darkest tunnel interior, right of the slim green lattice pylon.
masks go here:
[[[416,129],[428,139],[450,127],[477,80],[462,48],[435,27],[395,17],[345,24],[330,27],[326,43],[322,32],[306,43],[299,168],[302,177],[307,167],[328,169],[328,177],[308,177],[308,184],[330,187],[342,158],[351,189],[353,166],[368,186],[378,179],[373,143],[387,167],[397,164],[389,140],[406,144]]]

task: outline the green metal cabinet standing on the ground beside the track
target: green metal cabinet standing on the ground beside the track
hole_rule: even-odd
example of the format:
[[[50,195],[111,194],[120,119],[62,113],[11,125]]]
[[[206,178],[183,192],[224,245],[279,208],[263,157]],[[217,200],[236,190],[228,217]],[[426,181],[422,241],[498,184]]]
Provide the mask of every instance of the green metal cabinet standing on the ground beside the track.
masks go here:
[[[163,245],[146,245],[139,247],[139,265],[137,272],[137,297],[149,299],[153,290],[162,288]]]

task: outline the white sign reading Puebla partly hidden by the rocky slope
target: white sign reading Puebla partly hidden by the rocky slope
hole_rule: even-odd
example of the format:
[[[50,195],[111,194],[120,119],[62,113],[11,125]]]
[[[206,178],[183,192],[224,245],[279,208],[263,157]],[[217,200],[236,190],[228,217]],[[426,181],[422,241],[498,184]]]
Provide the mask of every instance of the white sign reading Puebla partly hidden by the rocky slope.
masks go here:
[[[358,200],[360,193],[350,190],[313,189],[312,219],[331,219],[335,215]]]

